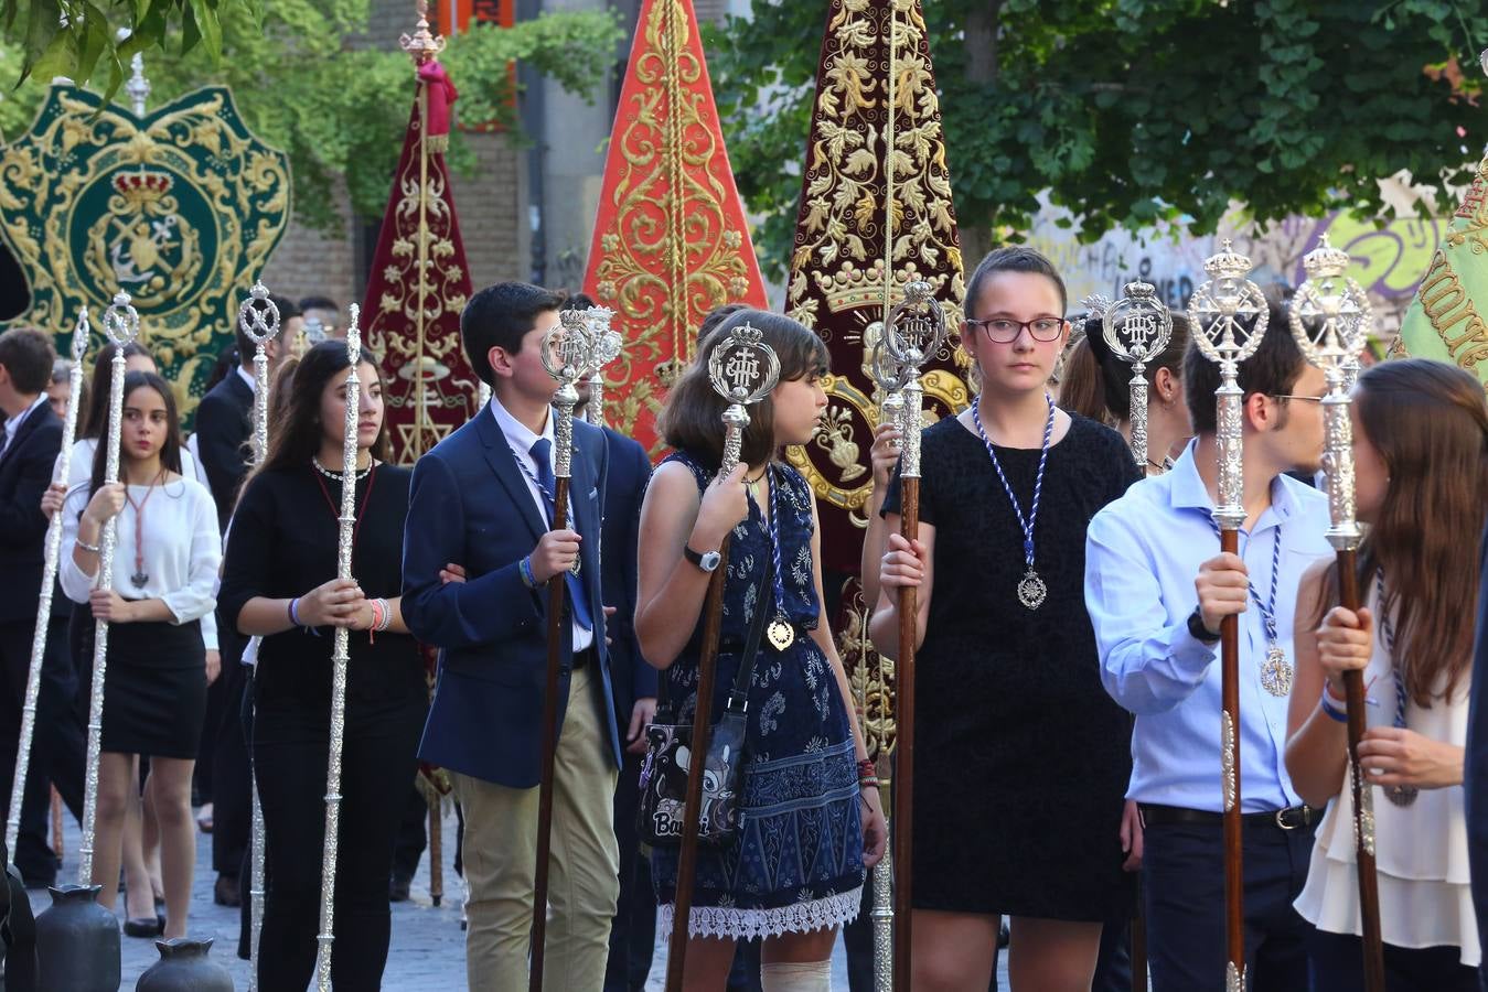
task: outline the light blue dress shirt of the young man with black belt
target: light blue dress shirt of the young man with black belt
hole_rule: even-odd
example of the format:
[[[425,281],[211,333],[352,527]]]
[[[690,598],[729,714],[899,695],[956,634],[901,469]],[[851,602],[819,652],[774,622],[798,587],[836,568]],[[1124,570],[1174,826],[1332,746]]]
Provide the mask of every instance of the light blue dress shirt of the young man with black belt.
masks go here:
[[[1128,799],[1220,812],[1219,645],[1189,634],[1199,565],[1219,555],[1210,498],[1190,442],[1173,470],[1143,479],[1110,503],[1086,532],[1085,604],[1095,626],[1106,692],[1137,715]],[[1277,476],[1271,507],[1240,534],[1251,587],[1271,592],[1271,561],[1281,541],[1277,642],[1292,645],[1302,573],[1333,549],[1327,500]],[[1242,812],[1296,806],[1284,763],[1287,699],[1260,687],[1266,628],[1254,598],[1240,614],[1240,794]]]

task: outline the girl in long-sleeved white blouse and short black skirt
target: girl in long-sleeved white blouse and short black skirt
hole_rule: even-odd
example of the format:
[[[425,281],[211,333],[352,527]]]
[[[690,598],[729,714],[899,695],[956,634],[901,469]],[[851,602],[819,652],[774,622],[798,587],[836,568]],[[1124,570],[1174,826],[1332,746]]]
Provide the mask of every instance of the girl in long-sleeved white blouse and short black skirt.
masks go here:
[[[104,448],[92,479],[62,506],[61,567],[68,598],[109,620],[103,757],[98,766],[94,883],[118,897],[121,831],[135,756],[150,756],[147,788],[161,827],[165,937],[186,934],[196,861],[190,778],[207,702],[201,620],[216,605],[222,561],[211,494],[182,476],[176,400],[158,375],[124,381],[119,485],[103,485]],[[97,587],[104,525],[116,519],[113,589]]]

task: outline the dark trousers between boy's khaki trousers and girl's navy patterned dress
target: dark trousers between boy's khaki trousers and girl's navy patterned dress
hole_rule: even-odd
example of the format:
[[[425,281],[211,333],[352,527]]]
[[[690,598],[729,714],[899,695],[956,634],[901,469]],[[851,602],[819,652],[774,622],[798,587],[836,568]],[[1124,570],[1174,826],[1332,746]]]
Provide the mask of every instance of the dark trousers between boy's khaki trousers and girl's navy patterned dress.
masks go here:
[[[656,895],[650,883],[650,861],[641,854],[635,831],[640,808],[640,770],[644,756],[626,754],[615,788],[615,839],[620,846],[620,898],[610,924],[610,959],[604,967],[604,992],[640,992],[650,974],[656,950]]]

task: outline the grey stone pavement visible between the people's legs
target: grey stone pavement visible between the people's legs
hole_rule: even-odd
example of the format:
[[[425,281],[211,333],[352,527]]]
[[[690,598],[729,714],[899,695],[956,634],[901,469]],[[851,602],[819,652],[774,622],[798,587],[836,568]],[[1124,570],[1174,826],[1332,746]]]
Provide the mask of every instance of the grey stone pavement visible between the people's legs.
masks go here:
[[[455,819],[451,814],[445,818],[443,828],[445,898],[442,904],[434,907],[429,897],[429,857],[426,854],[418,867],[418,876],[414,879],[412,898],[393,906],[393,944],[382,979],[382,988],[390,992],[455,992],[464,988],[464,933],[460,930],[463,889],[454,873],[454,831]],[[71,818],[65,819],[64,839],[64,863],[58,880],[73,882],[77,872],[79,831]],[[196,834],[196,842],[190,935],[196,938],[211,937],[211,958],[226,965],[240,991],[247,989],[248,962],[240,961],[237,956],[238,910],[213,903],[211,889],[217,876],[211,870],[211,837]],[[30,895],[34,912],[40,913],[51,906],[51,897],[45,889],[33,889]],[[122,897],[119,903],[122,910]],[[153,940],[122,937],[122,941],[124,982],[119,988],[134,989],[140,974],[159,959],[159,952],[155,949]],[[998,976],[1001,988],[1006,989],[1004,968],[1006,956]],[[661,992],[665,974],[667,947],[658,938],[652,976],[646,985],[647,992]],[[847,992],[847,958],[842,953],[841,941],[832,958],[832,988],[836,992]]]

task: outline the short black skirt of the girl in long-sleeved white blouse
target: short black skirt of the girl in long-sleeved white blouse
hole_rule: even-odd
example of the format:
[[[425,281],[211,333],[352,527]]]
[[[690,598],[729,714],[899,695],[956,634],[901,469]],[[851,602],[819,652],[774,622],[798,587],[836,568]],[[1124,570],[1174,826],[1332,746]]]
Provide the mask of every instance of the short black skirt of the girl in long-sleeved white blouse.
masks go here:
[[[89,623],[88,663],[92,634]],[[104,751],[195,760],[205,711],[207,651],[199,622],[109,625]]]

